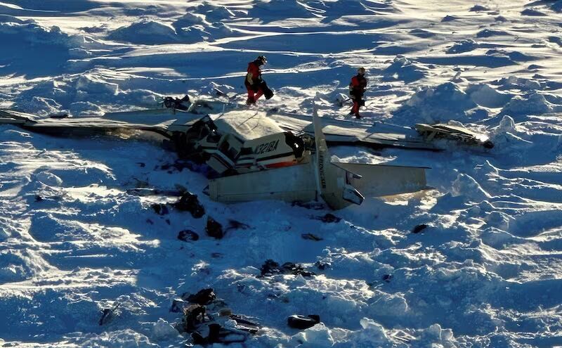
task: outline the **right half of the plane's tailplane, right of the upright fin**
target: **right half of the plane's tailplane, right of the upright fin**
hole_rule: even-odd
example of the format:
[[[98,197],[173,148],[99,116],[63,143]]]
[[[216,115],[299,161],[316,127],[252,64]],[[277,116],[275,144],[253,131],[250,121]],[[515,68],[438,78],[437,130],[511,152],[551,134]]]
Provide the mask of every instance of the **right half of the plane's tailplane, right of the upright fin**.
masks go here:
[[[348,172],[348,182],[366,197],[398,195],[427,188],[427,167],[365,165],[336,162],[336,167]]]

